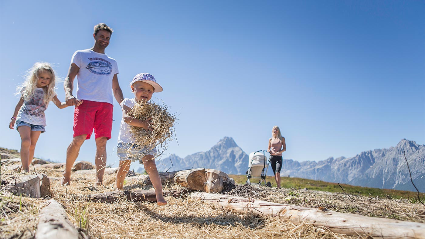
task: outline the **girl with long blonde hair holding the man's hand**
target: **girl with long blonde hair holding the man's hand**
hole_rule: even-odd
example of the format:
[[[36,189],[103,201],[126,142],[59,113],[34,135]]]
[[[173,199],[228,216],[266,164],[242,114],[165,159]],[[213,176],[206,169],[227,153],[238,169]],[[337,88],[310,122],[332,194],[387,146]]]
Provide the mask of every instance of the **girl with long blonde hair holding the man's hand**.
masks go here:
[[[20,91],[21,97],[15,107],[9,128],[16,129],[21,136],[22,170],[29,172],[29,165],[34,157],[35,144],[42,132],[45,132],[46,119],[44,111],[50,101],[59,109],[67,107],[60,102],[55,93],[55,73],[48,63],[36,62],[28,70],[26,81]],[[81,104],[82,101],[78,101]]]

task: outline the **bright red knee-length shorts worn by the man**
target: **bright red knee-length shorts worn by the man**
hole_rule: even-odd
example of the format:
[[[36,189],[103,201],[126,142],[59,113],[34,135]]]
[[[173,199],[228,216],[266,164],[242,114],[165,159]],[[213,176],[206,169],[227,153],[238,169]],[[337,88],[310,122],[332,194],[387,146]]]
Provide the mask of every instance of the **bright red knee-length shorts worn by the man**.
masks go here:
[[[89,139],[94,129],[95,138],[111,138],[113,105],[105,102],[83,100],[74,110],[74,137],[87,134]]]

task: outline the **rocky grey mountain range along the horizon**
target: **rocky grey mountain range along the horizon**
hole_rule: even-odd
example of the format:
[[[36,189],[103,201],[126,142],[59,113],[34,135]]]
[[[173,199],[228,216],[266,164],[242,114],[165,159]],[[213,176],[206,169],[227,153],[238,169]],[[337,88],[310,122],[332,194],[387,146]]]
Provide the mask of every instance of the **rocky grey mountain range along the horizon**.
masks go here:
[[[425,192],[425,145],[406,139],[402,139],[395,147],[369,150],[348,158],[330,157],[317,162],[283,159],[281,175],[354,186],[416,191],[403,152],[415,186]],[[157,166],[160,171],[203,167],[227,174],[245,174],[248,155],[232,138],[224,137],[207,152],[197,152],[184,158],[170,155],[159,160]]]

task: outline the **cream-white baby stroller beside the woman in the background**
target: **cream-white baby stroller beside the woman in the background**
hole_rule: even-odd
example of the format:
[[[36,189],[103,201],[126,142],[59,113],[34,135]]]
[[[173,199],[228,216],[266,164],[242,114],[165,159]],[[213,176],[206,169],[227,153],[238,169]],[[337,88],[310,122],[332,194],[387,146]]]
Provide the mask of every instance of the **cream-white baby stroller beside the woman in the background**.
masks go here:
[[[267,161],[266,155],[264,154],[266,150],[258,150],[257,152],[252,152],[249,154],[249,163],[248,170],[246,171],[246,183],[251,183],[249,180],[251,177],[261,177],[258,184],[262,184],[271,187],[272,183],[266,183],[266,174],[267,169],[269,168],[270,160]]]

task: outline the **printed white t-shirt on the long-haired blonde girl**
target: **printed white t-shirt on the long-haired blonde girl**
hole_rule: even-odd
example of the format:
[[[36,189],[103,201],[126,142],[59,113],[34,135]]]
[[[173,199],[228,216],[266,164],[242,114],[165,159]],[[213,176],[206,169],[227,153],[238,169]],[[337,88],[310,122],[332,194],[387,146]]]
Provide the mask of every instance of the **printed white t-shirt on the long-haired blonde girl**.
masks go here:
[[[22,88],[20,92],[23,93],[24,90],[25,87]],[[34,97],[24,100],[21,108],[18,111],[16,120],[24,121],[28,124],[45,126],[46,117],[44,111],[47,109],[48,104],[44,104],[43,96],[43,88],[35,88]]]

